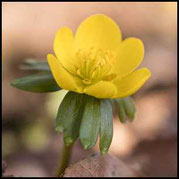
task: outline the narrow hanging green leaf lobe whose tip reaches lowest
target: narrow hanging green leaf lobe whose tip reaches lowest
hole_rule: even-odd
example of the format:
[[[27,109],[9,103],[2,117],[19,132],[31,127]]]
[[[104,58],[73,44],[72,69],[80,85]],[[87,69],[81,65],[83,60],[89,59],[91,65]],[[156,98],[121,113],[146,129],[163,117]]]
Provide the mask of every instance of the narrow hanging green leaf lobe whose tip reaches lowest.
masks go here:
[[[109,99],[101,100],[100,151],[106,154],[113,137],[112,103]]]

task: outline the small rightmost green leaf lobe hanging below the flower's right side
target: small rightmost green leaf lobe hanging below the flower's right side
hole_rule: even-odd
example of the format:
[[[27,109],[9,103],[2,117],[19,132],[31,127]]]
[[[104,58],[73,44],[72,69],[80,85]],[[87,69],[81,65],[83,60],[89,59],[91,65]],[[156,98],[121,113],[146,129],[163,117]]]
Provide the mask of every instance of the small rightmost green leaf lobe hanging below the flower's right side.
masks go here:
[[[123,104],[129,120],[133,121],[133,119],[135,118],[136,109],[132,98],[131,97],[123,98]]]

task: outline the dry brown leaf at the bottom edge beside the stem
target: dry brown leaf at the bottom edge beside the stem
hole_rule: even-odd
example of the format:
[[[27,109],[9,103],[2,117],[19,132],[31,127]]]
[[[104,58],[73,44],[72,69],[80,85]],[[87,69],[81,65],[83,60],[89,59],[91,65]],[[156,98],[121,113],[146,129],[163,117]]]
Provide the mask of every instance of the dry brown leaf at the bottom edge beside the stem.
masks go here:
[[[68,167],[63,177],[135,177],[135,172],[117,157],[99,153]]]

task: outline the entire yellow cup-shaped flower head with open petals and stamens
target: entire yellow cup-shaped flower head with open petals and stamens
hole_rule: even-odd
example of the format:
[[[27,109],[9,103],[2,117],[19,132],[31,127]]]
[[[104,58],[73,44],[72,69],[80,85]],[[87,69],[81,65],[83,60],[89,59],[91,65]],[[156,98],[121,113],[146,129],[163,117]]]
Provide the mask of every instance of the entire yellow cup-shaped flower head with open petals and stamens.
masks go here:
[[[47,55],[57,84],[97,98],[120,98],[135,93],[150,77],[141,68],[144,47],[140,39],[122,40],[118,25],[97,14],[85,19],[75,36],[71,29],[56,33],[54,51]]]

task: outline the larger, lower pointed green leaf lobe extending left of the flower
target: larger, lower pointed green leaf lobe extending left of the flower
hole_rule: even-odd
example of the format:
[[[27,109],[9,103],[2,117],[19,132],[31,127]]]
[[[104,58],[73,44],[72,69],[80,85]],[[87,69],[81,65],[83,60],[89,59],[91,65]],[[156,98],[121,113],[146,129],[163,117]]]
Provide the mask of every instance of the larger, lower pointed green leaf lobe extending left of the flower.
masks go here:
[[[36,93],[53,92],[61,89],[50,72],[18,78],[12,81],[10,85],[24,91]]]

